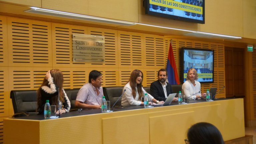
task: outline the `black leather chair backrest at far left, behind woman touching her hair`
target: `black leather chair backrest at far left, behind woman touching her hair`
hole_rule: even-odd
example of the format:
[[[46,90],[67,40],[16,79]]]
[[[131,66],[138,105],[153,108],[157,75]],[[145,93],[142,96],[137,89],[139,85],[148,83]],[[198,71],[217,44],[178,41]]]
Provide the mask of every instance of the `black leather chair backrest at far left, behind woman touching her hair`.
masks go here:
[[[36,115],[37,92],[36,90],[12,90],[10,93],[14,113],[28,112],[29,115]]]

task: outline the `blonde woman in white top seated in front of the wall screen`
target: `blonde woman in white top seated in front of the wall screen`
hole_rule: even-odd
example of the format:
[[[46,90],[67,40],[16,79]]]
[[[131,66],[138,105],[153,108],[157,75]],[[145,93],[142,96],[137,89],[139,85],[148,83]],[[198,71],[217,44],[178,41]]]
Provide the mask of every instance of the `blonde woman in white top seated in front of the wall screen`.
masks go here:
[[[201,84],[197,80],[197,72],[195,69],[189,69],[187,72],[187,80],[182,84],[182,94],[185,94],[186,99],[195,100],[205,98],[205,93],[201,93]]]

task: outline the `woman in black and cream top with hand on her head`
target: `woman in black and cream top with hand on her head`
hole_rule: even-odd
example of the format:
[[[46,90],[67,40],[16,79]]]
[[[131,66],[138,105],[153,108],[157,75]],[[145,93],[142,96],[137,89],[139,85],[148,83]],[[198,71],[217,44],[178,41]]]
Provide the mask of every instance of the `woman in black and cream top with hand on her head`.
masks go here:
[[[63,104],[63,108],[60,109],[60,113],[69,112],[70,101],[63,89],[63,74],[60,70],[53,69],[46,73],[42,85],[37,90],[38,114],[43,114],[46,100],[49,100],[50,105],[56,105],[57,109],[59,109],[59,96],[60,102]],[[59,110],[56,112],[59,113]]]

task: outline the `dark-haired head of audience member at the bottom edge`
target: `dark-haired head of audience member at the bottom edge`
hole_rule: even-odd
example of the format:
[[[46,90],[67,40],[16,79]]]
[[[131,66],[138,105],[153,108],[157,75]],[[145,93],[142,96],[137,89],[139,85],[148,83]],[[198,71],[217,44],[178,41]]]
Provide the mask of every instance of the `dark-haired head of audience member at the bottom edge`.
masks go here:
[[[187,138],[186,144],[224,144],[218,128],[207,122],[192,125],[188,130]]]

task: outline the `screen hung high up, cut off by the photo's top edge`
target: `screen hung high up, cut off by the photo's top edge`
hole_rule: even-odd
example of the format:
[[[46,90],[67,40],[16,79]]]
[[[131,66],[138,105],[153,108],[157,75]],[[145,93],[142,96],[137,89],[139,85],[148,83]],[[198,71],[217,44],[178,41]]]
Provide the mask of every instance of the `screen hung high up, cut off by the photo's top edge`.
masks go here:
[[[144,0],[145,12],[168,19],[204,24],[205,0]]]

